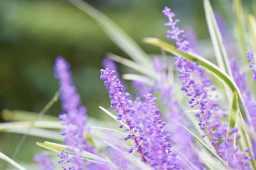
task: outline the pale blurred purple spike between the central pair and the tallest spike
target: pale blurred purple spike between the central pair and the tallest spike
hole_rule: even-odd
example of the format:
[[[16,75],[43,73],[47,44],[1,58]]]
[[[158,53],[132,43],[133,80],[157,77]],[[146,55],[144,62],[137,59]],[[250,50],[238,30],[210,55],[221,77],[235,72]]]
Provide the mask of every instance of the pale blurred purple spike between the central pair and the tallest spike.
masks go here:
[[[156,93],[160,94],[159,100],[161,101],[161,106],[167,109],[166,114],[166,130],[172,135],[171,141],[179,148],[180,152],[186,156],[196,167],[199,169],[204,169],[205,165],[198,160],[197,153],[195,150],[191,150],[193,145],[193,138],[186,132],[177,122],[182,125],[189,127],[189,124],[185,122],[184,111],[179,106],[175,94],[173,94],[173,85],[170,82],[168,74],[166,74],[166,64],[164,64],[162,59],[154,58],[154,66],[157,66],[159,73],[159,79],[156,80],[155,87]]]

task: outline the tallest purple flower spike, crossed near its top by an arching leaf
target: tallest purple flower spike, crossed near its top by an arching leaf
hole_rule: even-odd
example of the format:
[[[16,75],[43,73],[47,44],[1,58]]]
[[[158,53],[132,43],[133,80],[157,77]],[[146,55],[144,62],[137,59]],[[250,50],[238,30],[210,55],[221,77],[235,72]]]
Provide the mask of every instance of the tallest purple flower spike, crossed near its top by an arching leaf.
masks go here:
[[[165,8],[164,15],[169,18],[168,26],[172,26],[172,31],[167,32],[170,34],[170,38],[176,41],[178,50],[181,52],[188,52],[189,43],[180,43],[184,41],[184,31],[177,33],[175,30],[180,30],[175,27],[176,21],[173,21],[175,16],[170,12],[170,8]],[[184,47],[185,46],[185,47]],[[204,136],[211,138],[211,144],[216,149],[216,152],[222,159],[227,160],[231,167],[239,167],[243,169],[248,165],[250,157],[244,155],[236,146],[233,146],[232,141],[239,138],[239,135],[234,137],[234,133],[237,131],[227,132],[227,123],[221,122],[221,117],[226,117],[227,114],[223,113],[218,106],[218,101],[212,99],[209,92],[215,90],[216,87],[211,85],[211,78],[205,75],[205,70],[199,67],[199,64],[193,64],[182,57],[175,58],[175,66],[178,67],[179,78],[182,80],[183,87],[181,90],[185,91],[187,96],[191,97],[188,103],[191,108],[198,106],[199,112],[195,114],[198,117],[200,129],[205,131]],[[213,114],[212,114],[213,113]],[[228,135],[231,134],[231,135]],[[218,139],[223,139],[222,143]],[[228,153],[228,154],[226,154]]]

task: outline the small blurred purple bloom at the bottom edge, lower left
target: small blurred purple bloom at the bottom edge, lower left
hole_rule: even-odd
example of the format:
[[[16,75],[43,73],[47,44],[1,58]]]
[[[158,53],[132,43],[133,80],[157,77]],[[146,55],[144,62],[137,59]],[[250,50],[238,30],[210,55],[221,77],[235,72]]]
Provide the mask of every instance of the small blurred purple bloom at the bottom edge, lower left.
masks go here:
[[[52,163],[52,160],[45,153],[36,154],[34,156],[34,160],[40,167],[42,167],[45,170],[55,169],[55,166]]]

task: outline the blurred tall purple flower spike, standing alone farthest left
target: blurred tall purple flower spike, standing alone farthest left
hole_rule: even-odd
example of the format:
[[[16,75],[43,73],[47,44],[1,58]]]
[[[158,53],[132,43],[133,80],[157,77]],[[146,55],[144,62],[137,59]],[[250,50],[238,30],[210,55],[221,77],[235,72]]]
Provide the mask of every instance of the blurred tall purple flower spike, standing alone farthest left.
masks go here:
[[[54,66],[54,75],[59,79],[60,83],[60,99],[62,101],[62,113],[59,118],[65,129],[61,131],[64,136],[63,142],[70,146],[75,154],[73,159],[76,169],[83,169],[83,160],[80,153],[75,148],[93,152],[92,146],[88,144],[84,134],[86,132],[86,108],[81,106],[79,94],[76,92],[76,87],[73,83],[70,65],[63,57],[57,57]]]

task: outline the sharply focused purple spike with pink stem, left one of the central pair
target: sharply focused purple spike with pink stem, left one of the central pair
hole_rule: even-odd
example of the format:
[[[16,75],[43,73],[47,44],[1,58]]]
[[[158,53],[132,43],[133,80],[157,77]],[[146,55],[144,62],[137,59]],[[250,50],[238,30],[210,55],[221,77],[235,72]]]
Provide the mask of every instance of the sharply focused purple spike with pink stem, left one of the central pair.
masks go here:
[[[122,121],[124,124],[128,125],[125,131],[136,133],[138,132],[136,127],[136,122],[133,121],[134,118],[134,108],[132,107],[132,101],[129,100],[129,93],[124,93],[124,86],[120,83],[120,80],[116,77],[116,71],[110,71],[108,68],[100,69],[101,75],[100,79],[105,80],[104,85],[109,91],[109,98],[111,99],[110,108],[115,109],[118,113],[117,120]],[[120,125],[122,128],[124,125]],[[125,140],[134,139],[134,146],[129,150],[131,153],[133,150],[137,150],[143,162],[147,162],[145,155],[143,155],[143,148],[140,145],[141,138],[134,135],[128,135]]]

